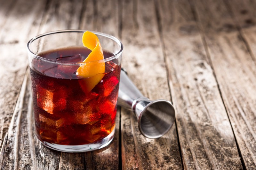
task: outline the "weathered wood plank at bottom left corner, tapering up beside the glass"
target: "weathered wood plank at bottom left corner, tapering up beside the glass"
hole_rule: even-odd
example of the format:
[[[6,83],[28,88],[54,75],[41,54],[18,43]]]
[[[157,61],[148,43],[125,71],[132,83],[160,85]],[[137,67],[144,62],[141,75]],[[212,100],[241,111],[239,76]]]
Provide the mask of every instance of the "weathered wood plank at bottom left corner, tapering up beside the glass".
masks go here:
[[[4,152],[1,169],[58,169],[59,152],[44,147],[36,139],[35,124],[30,122],[34,118],[28,75],[29,70],[12,116],[8,140],[1,150]]]

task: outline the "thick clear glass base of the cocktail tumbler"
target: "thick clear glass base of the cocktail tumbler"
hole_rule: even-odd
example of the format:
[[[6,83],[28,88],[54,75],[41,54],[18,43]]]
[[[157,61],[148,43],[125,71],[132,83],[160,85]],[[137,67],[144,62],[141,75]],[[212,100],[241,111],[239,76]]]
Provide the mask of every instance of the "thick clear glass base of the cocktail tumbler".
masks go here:
[[[52,144],[49,142],[42,142],[44,146],[61,151],[61,152],[88,152],[93,151],[96,149],[103,148],[110,144],[110,142],[113,140],[115,134],[115,129],[105,138],[101,139],[100,141],[91,143],[91,144],[82,144],[82,145],[61,145],[61,144]]]

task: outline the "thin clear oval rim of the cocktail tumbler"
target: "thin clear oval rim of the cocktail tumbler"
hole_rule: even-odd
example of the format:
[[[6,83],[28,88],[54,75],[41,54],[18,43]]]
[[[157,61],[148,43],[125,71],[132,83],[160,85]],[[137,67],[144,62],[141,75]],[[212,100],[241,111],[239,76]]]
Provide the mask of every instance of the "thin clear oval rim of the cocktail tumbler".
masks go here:
[[[94,33],[96,35],[100,35],[100,36],[103,36],[103,37],[106,37],[106,38],[109,38],[109,39],[115,41],[120,46],[120,50],[116,54],[114,54],[114,55],[112,55],[112,56],[110,56],[108,58],[102,59],[102,60],[95,60],[95,61],[92,61],[92,62],[79,62],[79,63],[77,63],[77,62],[62,62],[62,61],[46,59],[46,58],[43,58],[43,57],[40,57],[40,56],[36,55],[35,53],[33,53],[30,50],[30,44],[33,41],[37,40],[38,38],[41,38],[41,37],[44,37],[44,36],[47,36],[47,35],[51,35],[51,34],[55,34],[55,33],[84,33],[85,31],[87,31],[87,30],[72,30],[72,29],[68,29],[68,30],[57,30],[57,31],[51,31],[51,32],[46,32],[46,33],[43,33],[43,34],[39,34],[39,35],[33,37],[32,39],[30,39],[28,41],[28,44],[27,44],[28,54],[33,55],[34,58],[37,58],[37,59],[45,61],[45,62],[54,63],[54,64],[63,64],[63,65],[84,65],[85,63],[103,62],[103,61],[105,63],[105,62],[113,60],[114,58],[116,58],[117,56],[122,54],[124,47],[123,47],[122,42],[119,39],[117,39],[116,37],[114,37],[112,35],[109,35],[109,34],[106,34],[106,33],[96,32],[96,31],[90,31],[90,32],[92,32],[92,33]]]

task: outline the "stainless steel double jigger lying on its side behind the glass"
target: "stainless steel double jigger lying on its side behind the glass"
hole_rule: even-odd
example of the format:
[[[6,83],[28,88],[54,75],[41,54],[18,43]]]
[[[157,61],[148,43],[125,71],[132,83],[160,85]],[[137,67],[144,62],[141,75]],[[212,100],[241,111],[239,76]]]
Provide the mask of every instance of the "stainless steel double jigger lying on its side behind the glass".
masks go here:
[[[124,69],[121,70],[117,104],[135,113],[141,134],[148,138],[163,136],[175,120],[172,103],[144,97]]]

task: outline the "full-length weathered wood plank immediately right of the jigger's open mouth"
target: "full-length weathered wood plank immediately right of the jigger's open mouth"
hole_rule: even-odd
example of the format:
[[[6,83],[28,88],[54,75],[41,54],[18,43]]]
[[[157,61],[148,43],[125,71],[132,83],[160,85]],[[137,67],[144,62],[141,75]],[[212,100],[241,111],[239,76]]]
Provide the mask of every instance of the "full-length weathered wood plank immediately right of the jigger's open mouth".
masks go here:
[[[158,1],[184,169],[242,169],[231,125],[187,0]]]

